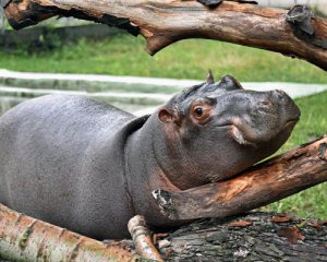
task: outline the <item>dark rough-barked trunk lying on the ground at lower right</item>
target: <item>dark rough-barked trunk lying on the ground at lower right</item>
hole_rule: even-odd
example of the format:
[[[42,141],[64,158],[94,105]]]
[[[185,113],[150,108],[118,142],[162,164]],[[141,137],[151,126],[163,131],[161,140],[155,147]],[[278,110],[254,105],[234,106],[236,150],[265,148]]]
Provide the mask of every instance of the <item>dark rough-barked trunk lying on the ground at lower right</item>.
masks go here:
[[[158,235],[165,261],[327,261],[327,223],[252,213]]]

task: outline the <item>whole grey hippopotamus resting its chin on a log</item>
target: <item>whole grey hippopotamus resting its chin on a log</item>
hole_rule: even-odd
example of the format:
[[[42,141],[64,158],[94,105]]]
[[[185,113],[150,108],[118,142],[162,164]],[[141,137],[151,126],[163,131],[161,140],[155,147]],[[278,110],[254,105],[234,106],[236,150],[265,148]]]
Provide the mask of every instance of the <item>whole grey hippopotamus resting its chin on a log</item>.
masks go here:
[[[164,216],[152,192],[228,180],[276,152],[300,110],[282,91],[243,90],[230,75],[174,95],[136,118],[76,95],[24,102],[0,120],[0,202],[96,239]]]

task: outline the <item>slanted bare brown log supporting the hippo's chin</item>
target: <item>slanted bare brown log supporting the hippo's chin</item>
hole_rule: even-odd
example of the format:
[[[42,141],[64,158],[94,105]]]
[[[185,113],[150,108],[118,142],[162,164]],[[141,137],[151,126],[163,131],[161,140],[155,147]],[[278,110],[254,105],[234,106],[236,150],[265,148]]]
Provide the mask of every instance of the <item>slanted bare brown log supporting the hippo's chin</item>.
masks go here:
[[[170,219],[241,214],[327,181],[327,158],[323,157],[327,155],[326,143],[327,135],[230,180],[179,192],[159,189],[153,191],[153,196]]]

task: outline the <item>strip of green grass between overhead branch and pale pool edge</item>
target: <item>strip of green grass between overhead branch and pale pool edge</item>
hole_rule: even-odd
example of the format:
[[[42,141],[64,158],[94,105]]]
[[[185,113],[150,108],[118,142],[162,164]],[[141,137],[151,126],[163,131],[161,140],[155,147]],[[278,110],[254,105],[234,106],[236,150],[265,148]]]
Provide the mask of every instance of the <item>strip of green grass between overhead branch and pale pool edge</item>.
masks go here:
[[[0,50],[0,68],[17,71],[96,73],[175,79],[203,79],[208,69],[218,76],[245,81],[327,83],[327,74],[305,61],[280,53],[214,40],[177,43],[148,56],[143,38],[116,35],[105,40],[81,39],[50,52],[28,55],[25,48]]]

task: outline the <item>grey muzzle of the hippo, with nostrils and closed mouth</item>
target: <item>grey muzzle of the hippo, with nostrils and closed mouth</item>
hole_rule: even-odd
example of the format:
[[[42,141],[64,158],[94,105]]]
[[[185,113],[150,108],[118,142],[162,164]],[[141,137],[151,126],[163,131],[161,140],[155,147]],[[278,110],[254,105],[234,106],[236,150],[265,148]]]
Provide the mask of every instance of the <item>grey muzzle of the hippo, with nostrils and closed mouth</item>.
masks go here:
[[[242,141],[252,145],[276,143],[271,141],[279,140],[281,142],[277,144],[282,144],[301,115],[299,107],[283,91],[240,91],[231,95],[240,102],[241,97],[246,97],[243,103],[239,103],[238,110],[233,110],[234,103],[231,99],[230,111],[233,110],[234,114],[232,123],[238,129],[238,132],[233,132],[237,142],[240,142],[239,138],[242,136]]]

